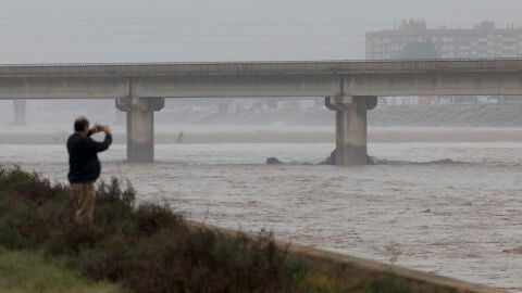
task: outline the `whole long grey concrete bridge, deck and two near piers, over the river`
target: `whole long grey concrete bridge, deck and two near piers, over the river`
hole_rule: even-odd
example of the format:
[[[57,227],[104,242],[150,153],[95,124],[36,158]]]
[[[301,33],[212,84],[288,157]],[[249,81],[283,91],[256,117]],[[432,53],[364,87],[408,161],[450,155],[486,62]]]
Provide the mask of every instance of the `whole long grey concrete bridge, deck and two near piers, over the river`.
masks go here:
[[[165,98],[326,97],[336,163],[363,165],[376,97],[458,94],[522,94],[522,60],[0,65],[0,99],[115,99],[129,162],[153,161]]]

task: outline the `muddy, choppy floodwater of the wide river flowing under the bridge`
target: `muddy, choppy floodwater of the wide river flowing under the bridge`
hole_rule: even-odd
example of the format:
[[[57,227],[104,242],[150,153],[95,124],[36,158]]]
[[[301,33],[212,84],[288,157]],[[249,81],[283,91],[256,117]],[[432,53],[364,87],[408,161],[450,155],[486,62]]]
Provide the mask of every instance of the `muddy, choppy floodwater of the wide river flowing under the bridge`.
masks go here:
[[[313,165],[333,149],[158,144],[156,164],[133,165],[116,144],[102,177],[192,220],[522,292],[522,142],[371,143],[376,165]],[[62,144],[1,144],[0,162],[66,179]]]

